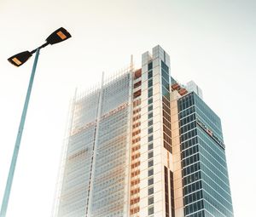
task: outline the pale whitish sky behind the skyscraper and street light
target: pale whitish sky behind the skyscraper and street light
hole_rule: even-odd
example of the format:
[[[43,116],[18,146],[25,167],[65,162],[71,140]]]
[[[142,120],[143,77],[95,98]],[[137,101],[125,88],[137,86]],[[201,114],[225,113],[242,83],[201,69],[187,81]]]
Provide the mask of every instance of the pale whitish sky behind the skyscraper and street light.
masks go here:
[[[160,44],[171,74],[195,81],[222,119],[236,217],[255,214],[256,1],[0,0],[0,200],[9,171],[32,60],[7,59],[36,49],[55,29],[67,41],[41,50],[20,145],[8,217],[50,216],[75,89],[79,92]]]

